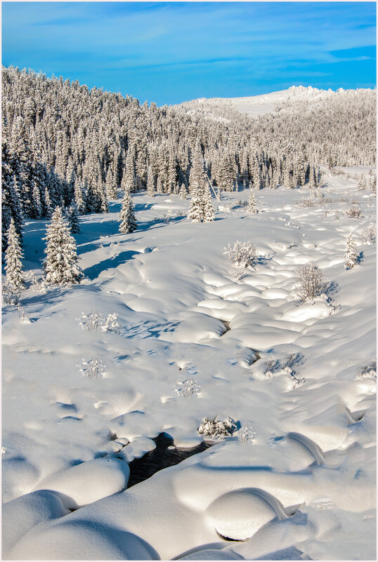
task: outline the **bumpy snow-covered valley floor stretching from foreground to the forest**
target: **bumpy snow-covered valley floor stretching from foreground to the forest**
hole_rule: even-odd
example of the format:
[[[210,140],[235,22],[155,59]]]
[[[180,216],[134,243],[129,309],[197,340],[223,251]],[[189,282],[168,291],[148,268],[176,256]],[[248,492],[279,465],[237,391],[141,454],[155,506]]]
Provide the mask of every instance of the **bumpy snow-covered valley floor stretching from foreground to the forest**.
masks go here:
[[[324,180],[311,201],[256,192],[256,215],[247,190],[222,194],[207,224],[178,196],[135,194],[133,234],[114,201],[81,219],[79,286],[22,293],[29,321],[4,306],[3,558],[375,559],[376,381],[360,375],[376,359],[376,247],[362,238],[375,199]],[[25,227],[37,275],[45,229]],[[362,254],[346,271],[351,232]],[[237,240],[256,244],[256,266],[233,269],[223,248]],[[309,261],[328,293],[301,304]],[[91,312],[119,328],[84,329]],[[83,376],[94,359],[103,376]],[[155,436],[194,446],[215,416],[240,429],[126,489]]]

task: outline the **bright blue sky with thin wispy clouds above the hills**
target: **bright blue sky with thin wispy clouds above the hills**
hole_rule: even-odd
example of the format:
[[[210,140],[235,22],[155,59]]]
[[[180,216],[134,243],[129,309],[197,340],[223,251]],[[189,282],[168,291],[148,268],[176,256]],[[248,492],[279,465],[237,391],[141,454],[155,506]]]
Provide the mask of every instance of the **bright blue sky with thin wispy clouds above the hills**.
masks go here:
[[[2,63],[143,103],[374,88],[374,2],[2,2]]]

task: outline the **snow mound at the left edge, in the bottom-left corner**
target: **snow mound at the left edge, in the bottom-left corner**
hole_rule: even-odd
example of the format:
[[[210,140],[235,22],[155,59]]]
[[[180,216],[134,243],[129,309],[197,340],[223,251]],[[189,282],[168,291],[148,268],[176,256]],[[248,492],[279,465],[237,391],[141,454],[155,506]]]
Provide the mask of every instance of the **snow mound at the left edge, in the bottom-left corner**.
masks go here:
[[[68,513],[60,497],[47,490],[25,494],[4,504],[2,512],[4,558],[7,558],[9,549],[41,521],[63,517]]]

